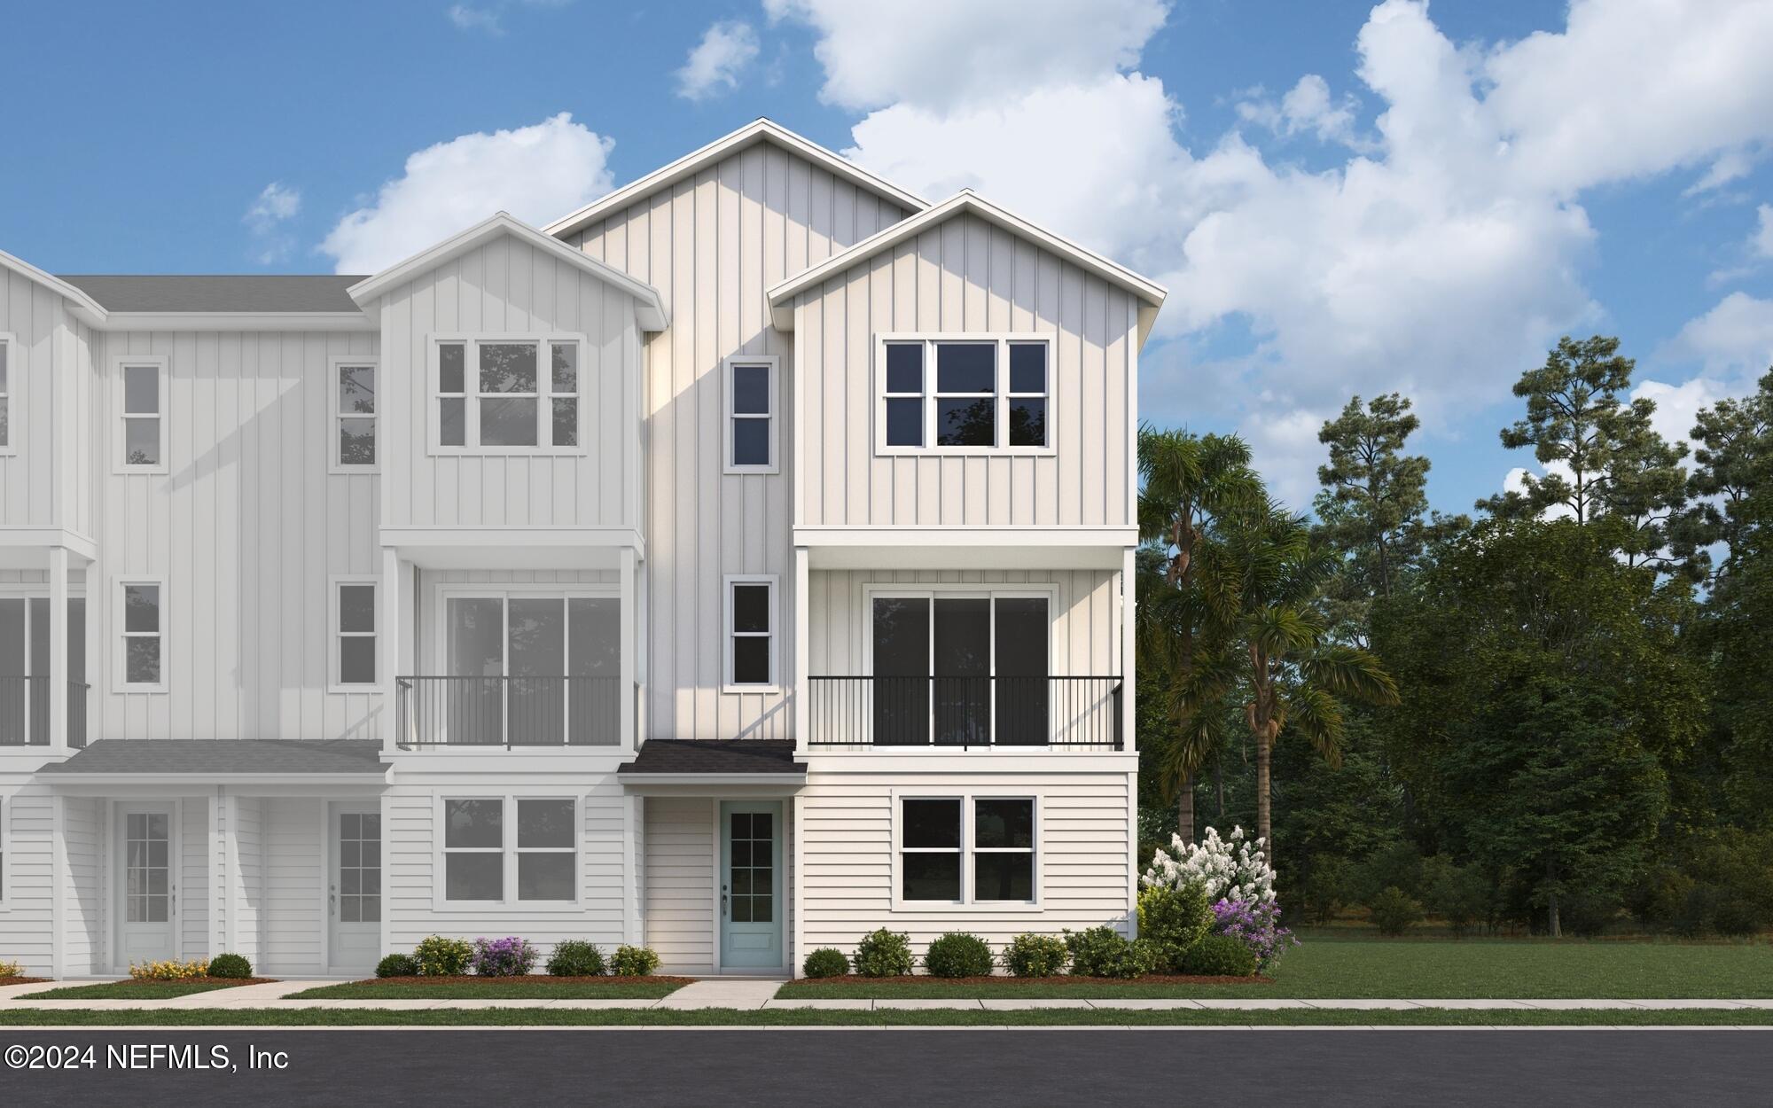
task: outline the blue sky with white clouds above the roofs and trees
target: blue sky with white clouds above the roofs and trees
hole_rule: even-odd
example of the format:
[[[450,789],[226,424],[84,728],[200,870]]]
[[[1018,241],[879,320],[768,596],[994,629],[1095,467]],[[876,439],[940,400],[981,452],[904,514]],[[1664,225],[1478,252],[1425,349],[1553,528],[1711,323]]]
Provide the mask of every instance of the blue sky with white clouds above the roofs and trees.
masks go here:
[[[1566,330],[1621,335],[1670,433],[1773,360],[1766,0],[904,2],[16,5],[0,248],[363,268],[769,115],[1168,284],[1144,413],[1296,503],[1351,392],[1417,399],[1466,511]]]

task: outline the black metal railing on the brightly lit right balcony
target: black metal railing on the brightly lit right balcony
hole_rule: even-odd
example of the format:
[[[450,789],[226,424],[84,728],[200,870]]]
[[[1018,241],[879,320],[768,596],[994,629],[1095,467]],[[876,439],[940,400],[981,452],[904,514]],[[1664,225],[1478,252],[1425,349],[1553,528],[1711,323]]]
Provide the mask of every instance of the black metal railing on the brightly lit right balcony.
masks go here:
[[[808,677],[808,746],[1121,750],[1121,677]]]

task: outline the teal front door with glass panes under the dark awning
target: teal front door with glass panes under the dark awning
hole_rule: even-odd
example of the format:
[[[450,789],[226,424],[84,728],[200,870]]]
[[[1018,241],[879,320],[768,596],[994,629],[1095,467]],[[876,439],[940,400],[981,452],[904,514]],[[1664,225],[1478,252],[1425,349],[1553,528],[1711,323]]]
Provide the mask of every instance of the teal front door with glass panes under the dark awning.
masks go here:
[[[720,801],[720,966],[780,970],[782,801]]]

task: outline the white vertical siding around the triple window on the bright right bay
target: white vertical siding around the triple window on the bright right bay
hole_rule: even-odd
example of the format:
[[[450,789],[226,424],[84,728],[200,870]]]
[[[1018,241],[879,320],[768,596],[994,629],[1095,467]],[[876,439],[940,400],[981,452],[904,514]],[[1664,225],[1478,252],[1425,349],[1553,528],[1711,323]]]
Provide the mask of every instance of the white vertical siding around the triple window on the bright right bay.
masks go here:
[[[800,519],[835,525],[1131,525],[1133,298],[1057,255],[957,215],[803,293]],[[1055,454],[874,454],[874,335],[1014,332],[1055,340]],[[931,367],[933,369],[933,367]],[[1007,372],[1000,367],[998,372]]]

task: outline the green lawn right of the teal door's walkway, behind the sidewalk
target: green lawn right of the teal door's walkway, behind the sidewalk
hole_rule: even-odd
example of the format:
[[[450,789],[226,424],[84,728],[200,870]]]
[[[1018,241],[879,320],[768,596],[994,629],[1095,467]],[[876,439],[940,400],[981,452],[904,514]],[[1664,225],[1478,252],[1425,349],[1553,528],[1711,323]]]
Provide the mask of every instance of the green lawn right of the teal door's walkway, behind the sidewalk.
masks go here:
[[[1551,940],[1312,940],[1289,950],[1268,986],[791,982],[787,998],[1576,998],[1761,1000],[1773,996],[1773,945]]]

